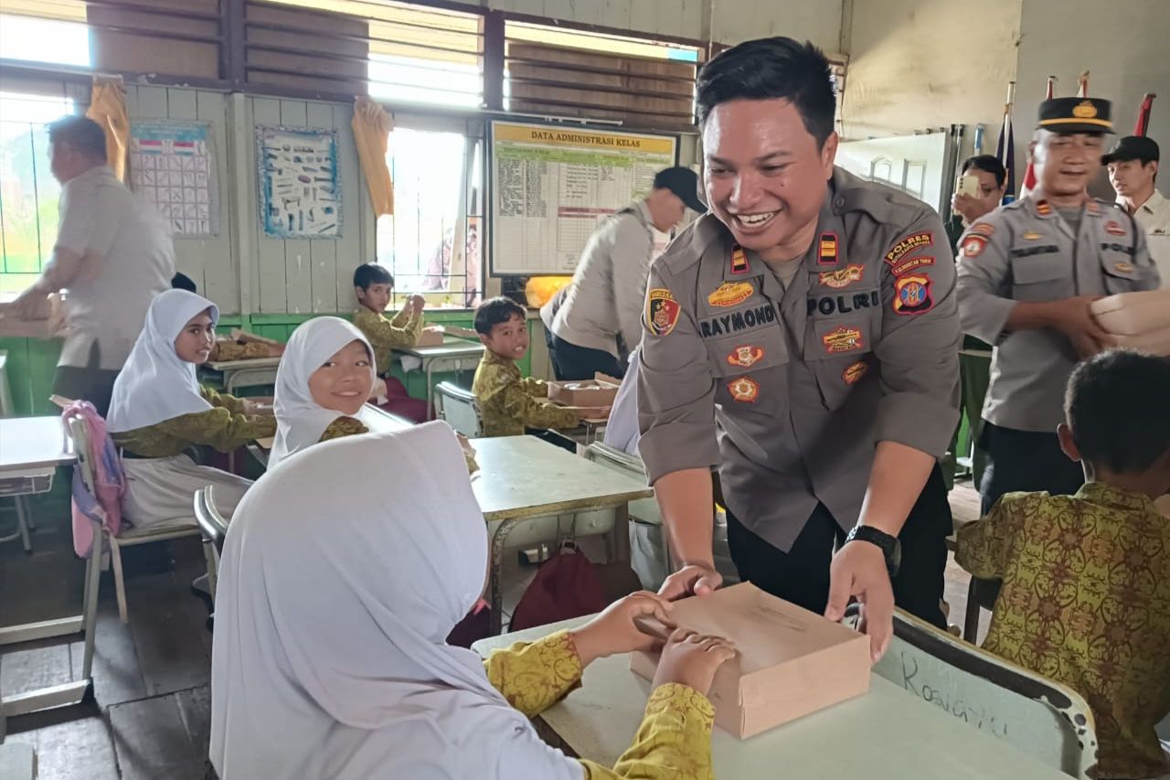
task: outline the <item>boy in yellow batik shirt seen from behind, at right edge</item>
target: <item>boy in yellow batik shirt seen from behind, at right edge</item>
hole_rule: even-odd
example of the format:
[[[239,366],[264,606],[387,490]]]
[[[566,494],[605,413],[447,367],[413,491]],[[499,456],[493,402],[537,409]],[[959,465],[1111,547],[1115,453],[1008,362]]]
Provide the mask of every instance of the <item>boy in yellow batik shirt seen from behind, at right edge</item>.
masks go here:
[[[1170,772],[1170,358],[1113,350],[1073,371],[1060,446],[1075,495],[1010,493],[958,532],[958,563],[1003,580],[984,649],[1079,691],[1096,720],[1097,774]]]

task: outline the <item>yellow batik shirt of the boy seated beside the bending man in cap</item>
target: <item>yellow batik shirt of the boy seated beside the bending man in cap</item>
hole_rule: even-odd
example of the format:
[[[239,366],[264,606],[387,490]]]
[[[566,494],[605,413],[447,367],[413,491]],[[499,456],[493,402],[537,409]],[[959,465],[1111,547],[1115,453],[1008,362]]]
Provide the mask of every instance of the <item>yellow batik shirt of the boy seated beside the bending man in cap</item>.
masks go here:
[[[580,417],[572,409],[541,398],[549,397],[549,385],[522,377],[519,367],[491,351],[484,351],[472,392],[480,404],[484,436],[523,436],[525,427],[577,427]]]

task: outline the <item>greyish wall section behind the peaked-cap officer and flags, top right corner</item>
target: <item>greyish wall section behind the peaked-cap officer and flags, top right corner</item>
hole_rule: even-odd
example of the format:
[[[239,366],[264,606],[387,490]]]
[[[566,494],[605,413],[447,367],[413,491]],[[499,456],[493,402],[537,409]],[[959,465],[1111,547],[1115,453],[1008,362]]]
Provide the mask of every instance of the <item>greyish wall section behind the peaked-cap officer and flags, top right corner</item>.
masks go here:
[[[1058,96],[1075,95],[1083,70],[1089,71],[1089,95],[1113,101],[1117,136],[1134,131],[1143,94],[1161,96],[1154,101],[1149,135],[1161,144],[1165,159],[1170,153],[1170,0],[1023,2],[1014,112],[1017,170],[1024,170],[1045,78],[1049,74],[1059,78]],[[1158,189],[1170,194],[1170,175],[1158,177]],[[1103,179],[1094,192],[1112,197]]]

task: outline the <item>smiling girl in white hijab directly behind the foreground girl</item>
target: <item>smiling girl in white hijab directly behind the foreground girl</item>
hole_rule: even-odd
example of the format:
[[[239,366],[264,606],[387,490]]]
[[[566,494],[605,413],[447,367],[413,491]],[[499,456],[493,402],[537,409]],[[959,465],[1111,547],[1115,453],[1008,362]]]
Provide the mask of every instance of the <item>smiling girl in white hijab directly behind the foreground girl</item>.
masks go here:
[[[276,371],[276,440],[268,467],[318,442],[365,433],[365,404],[377,378],[373,349],[352,323],[340,317],[302,323]]]

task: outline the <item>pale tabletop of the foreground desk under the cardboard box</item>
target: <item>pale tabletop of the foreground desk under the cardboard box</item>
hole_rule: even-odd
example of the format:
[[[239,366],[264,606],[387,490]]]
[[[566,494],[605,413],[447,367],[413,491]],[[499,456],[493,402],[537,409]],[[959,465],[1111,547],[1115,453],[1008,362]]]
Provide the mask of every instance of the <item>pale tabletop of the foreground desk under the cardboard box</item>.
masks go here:
[[[487,656],[587,620],[490,637],[472,646]],[[613,766],[642,721],[651,684],[629,671],[627,655],[594,661],[581,683],[539,720],[576,755]],[[878,675],[867,695],[750,739],[716,727],[711,751],[720,780],[1068,780]]]

